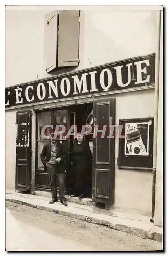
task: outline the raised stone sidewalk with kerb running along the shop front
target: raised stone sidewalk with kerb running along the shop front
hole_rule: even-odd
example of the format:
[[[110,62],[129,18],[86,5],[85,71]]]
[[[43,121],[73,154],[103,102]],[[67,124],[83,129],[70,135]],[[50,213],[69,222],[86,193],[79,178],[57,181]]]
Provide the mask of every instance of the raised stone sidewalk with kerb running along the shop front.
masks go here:
[[[60,202],[49,204],[50,199],[45,196],[21,194],[13,190],[6,190],[6,200],[162,242],[163,229],[150,223],[148,216],[128,214],[117,209],[99,209],[91,204],[68,202],[67,207]]]

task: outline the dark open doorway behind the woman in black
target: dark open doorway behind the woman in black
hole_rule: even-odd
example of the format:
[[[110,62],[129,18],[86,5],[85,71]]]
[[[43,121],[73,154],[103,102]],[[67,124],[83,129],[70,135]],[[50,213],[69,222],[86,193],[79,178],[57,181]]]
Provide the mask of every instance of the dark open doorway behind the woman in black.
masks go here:
[[[74,126],[74,132],[82,132],[83,125],[90,124],[93,116],[93,103],[79,104],[71,106],[69,108],[69,127]],[[85,168],[85,174],[83,177],[84,182],[84,197],[92,198],[92,133],[84,135],[84,143],[90,147],[91,157],[87,160],[87,167]],[[73,164],[74,147],[77,144],[77,139],[74,135],[69,136],[69,166],[67,168],[66,176],[66,194],[78,196],[79,191],[77,189],[77,170]],[[85,154],[85,153],[84,153]],[[80,165],[79,165],[80,166]]]

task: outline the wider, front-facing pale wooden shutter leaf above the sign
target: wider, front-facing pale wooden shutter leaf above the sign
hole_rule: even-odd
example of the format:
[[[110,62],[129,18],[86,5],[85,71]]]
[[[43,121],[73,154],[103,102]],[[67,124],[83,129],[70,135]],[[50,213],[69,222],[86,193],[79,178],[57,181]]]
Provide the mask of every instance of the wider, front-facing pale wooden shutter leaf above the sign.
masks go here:
[[[58,67],[79,65],[79,11],[59,13]]]

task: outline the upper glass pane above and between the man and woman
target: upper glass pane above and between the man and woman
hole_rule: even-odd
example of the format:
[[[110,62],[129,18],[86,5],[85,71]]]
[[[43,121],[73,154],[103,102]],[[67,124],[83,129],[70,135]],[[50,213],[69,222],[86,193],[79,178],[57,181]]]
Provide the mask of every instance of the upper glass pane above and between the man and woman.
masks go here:
[[[59,134],[60,139],[66,138],[66,131],[68,126],[68,120],[67,120],[67,110],[56,110],[53,112],[53,125],[54,125],[54,131],[62,131],[64,129],[63,133]],[[58,126],[56,126],[58,125]],[[62,127],[59,125],[63,125]]]

